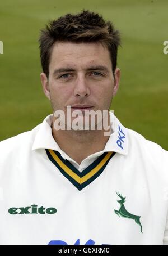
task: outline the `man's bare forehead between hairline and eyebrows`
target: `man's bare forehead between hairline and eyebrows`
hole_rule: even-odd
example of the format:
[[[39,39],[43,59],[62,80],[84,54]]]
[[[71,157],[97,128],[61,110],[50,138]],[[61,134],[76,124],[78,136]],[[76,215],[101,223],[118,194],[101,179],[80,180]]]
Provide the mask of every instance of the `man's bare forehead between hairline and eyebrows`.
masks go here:
[[[63,65],[86,68],[91,64],[111,68],[108,48],[101,43],[56,42],[50,56],[49,68],[54,69]]]

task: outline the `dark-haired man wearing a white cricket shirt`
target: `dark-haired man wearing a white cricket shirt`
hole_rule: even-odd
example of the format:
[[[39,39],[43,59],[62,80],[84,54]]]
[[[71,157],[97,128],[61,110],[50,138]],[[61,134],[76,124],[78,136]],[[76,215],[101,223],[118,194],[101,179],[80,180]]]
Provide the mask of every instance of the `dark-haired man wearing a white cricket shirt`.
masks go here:
[[[39,42],[53,114],[0,143],[1,244],[166,244],[168,153],[109,111],[119,32],[82,11],[50,21]]]

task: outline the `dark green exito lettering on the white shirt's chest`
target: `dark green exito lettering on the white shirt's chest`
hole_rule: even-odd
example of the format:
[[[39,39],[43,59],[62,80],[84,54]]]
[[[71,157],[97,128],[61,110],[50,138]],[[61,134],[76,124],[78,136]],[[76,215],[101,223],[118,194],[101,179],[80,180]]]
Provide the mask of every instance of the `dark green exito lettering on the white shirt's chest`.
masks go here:
[[[36,204],[32,204],[27,207],[12,207],[8,209],[8,213],[10,214],[54,214],[57,212],[57,209],[53,207],[45,208],[44,206],[38,207]]]

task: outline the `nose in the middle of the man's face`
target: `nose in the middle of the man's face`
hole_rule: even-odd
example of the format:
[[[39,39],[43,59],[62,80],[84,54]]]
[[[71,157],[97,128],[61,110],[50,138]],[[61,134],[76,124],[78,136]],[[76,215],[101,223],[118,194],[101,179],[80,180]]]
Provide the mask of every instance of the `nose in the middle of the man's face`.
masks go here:
[[[82,75],[76,79],[74,85],[74,96],[75,97],[88,97],[90,95],[90,89],[86,78]]]

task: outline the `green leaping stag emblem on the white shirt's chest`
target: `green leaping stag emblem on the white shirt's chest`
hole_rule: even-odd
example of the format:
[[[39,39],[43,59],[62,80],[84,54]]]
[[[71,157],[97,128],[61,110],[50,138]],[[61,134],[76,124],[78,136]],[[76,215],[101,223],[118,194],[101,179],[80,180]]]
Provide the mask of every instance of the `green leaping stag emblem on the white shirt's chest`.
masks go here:
[[[127,210],[125,209],[125,206],[124,206],[126,197],[123,197],[122,195],[120,195],[119,192],[116,192],[116,194],[120,197],[121,200],[118,200],[118,203],[120,204],[120,209],[119,210],[114,210],[114,212],[119,217],[122,216],[124,218],[134,219],[134,221],[141,227],[141,233],[143,233],[142,232],[142,225],[141,225],[141,222],[140,222],[141,216],[136,216],[136,215],[133,215],[133,214],[127,212]]]

